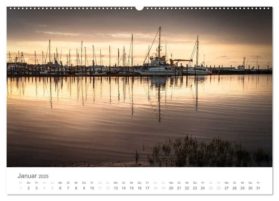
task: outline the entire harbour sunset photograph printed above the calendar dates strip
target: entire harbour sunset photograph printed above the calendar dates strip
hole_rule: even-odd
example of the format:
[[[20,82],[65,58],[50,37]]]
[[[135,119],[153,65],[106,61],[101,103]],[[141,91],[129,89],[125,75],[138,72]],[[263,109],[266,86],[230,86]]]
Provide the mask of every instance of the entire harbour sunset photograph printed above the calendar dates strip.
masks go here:
[[[272,20],[7,7],[7,167],[272,167]]]

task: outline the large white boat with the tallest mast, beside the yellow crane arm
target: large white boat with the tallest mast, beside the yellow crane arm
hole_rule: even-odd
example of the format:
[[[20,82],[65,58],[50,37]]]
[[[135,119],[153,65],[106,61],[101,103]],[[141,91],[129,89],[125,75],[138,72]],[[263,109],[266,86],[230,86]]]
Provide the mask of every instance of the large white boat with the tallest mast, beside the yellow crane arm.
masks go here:
[[[143,70],[143,69],[138,70],[138,72],[141,75],[178,75],[180,73],[180,71],[170,68],[172,65],[166,63],[166,56],[160,55],[160,50],[161,50],[160,43],[161,43],[161,27],[159,27],[159,45],[158,48],[156,49],[158,55],[156,53],[155,57],[151,56],[149,58],[151,63],[143,64],[143,67],[146,68],[150,67],[150,68],[147,70]]]

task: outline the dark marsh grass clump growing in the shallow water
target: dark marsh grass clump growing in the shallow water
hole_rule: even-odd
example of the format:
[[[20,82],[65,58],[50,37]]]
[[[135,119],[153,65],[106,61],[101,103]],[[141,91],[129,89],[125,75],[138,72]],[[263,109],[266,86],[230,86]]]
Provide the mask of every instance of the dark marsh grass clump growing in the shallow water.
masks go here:
[[[184,136],[153,146],[144,146],[150,150],[147,161],[150,164],[195,167],[271,167],[272,155],[263,148],[247,150],[241,143],[213,138],[210,142],[198,141],[192,136]],[[137,157],[136,157],[137,156]],[[135,154],[136,162],[138,153]]]

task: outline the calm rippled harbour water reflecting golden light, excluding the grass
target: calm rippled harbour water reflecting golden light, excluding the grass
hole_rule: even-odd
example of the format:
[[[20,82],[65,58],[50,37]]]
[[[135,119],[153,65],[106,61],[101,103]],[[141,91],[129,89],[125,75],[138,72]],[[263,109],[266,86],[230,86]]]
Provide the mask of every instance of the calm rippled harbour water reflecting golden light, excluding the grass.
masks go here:
[[[8,166],[134,161],[184,134],[272,152],[272,75],[7,78]]]

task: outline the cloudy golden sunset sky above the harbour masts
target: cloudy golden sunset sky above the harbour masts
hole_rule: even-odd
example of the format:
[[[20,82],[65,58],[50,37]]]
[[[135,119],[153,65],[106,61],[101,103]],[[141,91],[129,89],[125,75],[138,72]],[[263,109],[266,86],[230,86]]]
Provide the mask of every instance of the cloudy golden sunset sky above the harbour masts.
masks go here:
[[[27,63],[35,63],[34,51],[42,63],[42,51],[47,53],[51,40],[51,53],[62,51],[61,61],[71,54],[71,63],[76,65],[76,49],[84,65],[84,47],[89,65],[92,65],[92,45],[100,64],[100,49],[104,65],[118,63],[125,46],[126,57],[133,34],[134,65],[142,65],[148,45],[152,45],[161,26],[161,45],[165,55],[167,43],[168,59],[190,59],[197,35],[199,35],[199,63],[236,67],[245,56],[250,67],[256,66],[256,55],[260,68],[272,66],[272,8],[270,9],[9,9],[7,7],[7,61],[9,52],[14,59],[23,52]],[[159,43],[155,39],[150,56],[155,55]],[[131,53],[130,53],[131,55]],[[204,56],[205,55],[205,56]],[[194,62],[195,63],[195,56]],[[87,63],[87,61],[86,61]],[[182,62],[183,65],[186,63]],[[122,65],[122,61],[120,62]]]

